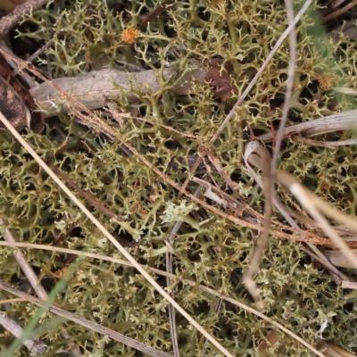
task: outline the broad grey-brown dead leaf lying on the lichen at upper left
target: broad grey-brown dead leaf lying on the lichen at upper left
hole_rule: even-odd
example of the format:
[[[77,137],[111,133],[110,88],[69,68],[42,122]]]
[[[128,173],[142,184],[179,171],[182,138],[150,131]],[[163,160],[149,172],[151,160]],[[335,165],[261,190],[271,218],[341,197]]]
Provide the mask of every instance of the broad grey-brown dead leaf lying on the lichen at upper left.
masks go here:
[[[164,79],[170,80],[175,72],[173,68],[165,69],[163,71]],[[203,70],[188,72],[182,79],[182,84],[173,88],[175,93],[187,95],[192,81],[203,82],[206,73]],[[132,73],[118,70],[91,71],[80,74],[78,77],[53,79],[52,83],[71,95],[80,104],[85,105],[88,110],[103,108],[108,101],[117,100],[118,96],[125,91],[127,92],[126,99],[130,104],[137,101],[137,95],[133,93],[133,89],[145,93],[156,92],[160,88],[157,73],[151,70]],[[33,87],[29,93],[33,95],[38,106],[46,111],[46,116],[58,112],[70,112],[70,108],[66,104],[67,98],[50,83],[45,82]]]

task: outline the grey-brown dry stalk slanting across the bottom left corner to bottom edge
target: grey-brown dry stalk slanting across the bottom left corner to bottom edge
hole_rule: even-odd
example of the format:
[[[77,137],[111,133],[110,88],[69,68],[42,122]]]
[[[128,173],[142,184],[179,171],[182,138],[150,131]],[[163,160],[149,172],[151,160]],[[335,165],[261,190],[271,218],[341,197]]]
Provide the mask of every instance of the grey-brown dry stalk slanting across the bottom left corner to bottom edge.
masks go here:
[[[20,296],[23,299],[28,299],[29,303],[33,303],[37,306],[40,307],[44,307],[43,303],[45,303],[45,301],[34,301],[31,295],[23,293],[21,290],[19,289],[15,289],[12,286],[9,286],[7,284],[5,284],[4,282],[0,281],[0,289],[3,289],[4,291],[11,293],[12,295],[15,296]],[[92,322],[90,320],[86,320],[83,319],[79,316],[77,316],[74,313],[71,313],[69,311],[65,311],[63,309],[61,309],[58,306],[55,305],[46,305],[46,310],[54,312],[56,315],[61,316],[65,319],[71,320],[81,326],[84,326],[85,328],[89,328],[95,332],[97,332],[98,334],[104,335],[104,336],[109,336],[111,337],[113,340],[120,342],[121,344],[124,345],[129,345],[129,347],[135,348],[138,351],[141,351],[143,353],[147,353],[150,356],[153,357],[173,357],[172,354],[170,353],[164,353],[162,351],[156,350],[153,347],[150,347],[148,345],[145,345],[141,342],[137,342],[136,340],[134,340],[133,338],[130,338],[128,336],[124,336],[122,334],[120,334],[119,332],[113,331],[111,328],[104,328],[103,326]]]

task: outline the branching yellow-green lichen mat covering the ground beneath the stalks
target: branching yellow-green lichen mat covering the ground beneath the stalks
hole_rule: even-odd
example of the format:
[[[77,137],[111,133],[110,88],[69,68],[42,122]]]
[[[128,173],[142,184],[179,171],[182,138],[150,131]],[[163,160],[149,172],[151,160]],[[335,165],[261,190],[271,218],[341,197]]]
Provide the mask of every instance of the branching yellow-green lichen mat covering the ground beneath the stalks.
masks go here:
[[[104,0],[50,2],[46,8],[25,19],[19,34],[21,38],[32,38],[38,46],[54,37],[54,45],[37,62],[39,67],[48,62],[54,78],[89,71],[101,59],[110,67],[125,61],[158,72],[166,62],[173,62],[179,70],[193,71],[194,67],[188,61],[192,58],[199,62],[222,58],[222,68],[225,62],[229,63],[237,93],[232,93],[227,102],[217,99],[207,83],[195,84],[191,94],[179,96],[174,95],[170,83],[163,80],[158,93],[137,93],[139,103],[130,108],[125,93],[118,98],[124,111],[145,113],[147,119],[157,124],[151,126],[139,120],[125,119],[119,129],[120,135],[170,179],[182,183],[187,178],[189,155],[198,152],[199,144],[209,143],[231,105],[286,29],[286,11],[278,2],[178,2],[170,7],[169,14],[150,22],[135,46],[129,46],[120,42],[123,29],[135,29],[154,4],[139,0],[117,3],[113,6]],[[351,97],[341,96],[337,101],[330,87],[321,85],[321,81],[324,84],[328,79],[332,78],[330,81],[334,82],[338,78],[354,85],[355,44],[345,38],[331,42],[328,37],[320,37],[320,47],[316,46],[316,37],[309,33],[313,16],[313,12],[304,16],[299,28],[295,93],[289,124],[354,107]],[[321,48],[328,48],[328,51]],[[237,180],[237,194],[245,195],[258,212],[262,212],[262,193],[242,167],[242,143],[248,139],[248,128],[256,132],[270,131],[270,123],[275,124],[279,119],[288,61],[285,43],[212,147],[224,169]],[[319,95],[319,101],[315,100],[316,95]],[[28,133],[29,143],[46,162],[66,172],[79,187],[129,225],[129,229],[124,229],[104,212],[90,206],[95,217],[104,222],[139,262],[164,269],[165,256],[161,253],[165,249],[164,239],[169,237],[176,221],[172,212],[177,215],[181,210],[179,213],[183,217],[180,219],[184,219],[185,224],[173,242],[177,253],[174,271],[178,278],[172,282],[170,290],[178,303],[231,353],[254,355],[256,347],[272,328],[270,324],[228,303],[223,303],[221,310],[215,312],[215,297],[181,281],[195,279],[197,283],[249,302],[240,279],[252,252],[256,231],[239,227],[178,199],[178,192],[158,178],[153,170],[137,158],[123,154],[118,142],[95,136],[75,124],[70,116],[61,115],[57,124],[54,126],[48,120],[41,135]],[[159,124],[195,133],[203,140],[201,143],[187,140]],[[115,254],[112,245],[38,169],[37,163],[21,146],[5,132],[0,135],[0,216],[6,219],[17,239]],[[345,132],[328,138],[350,136],[351,133]],[[329,150],[286,141],[280,169],[293,173],[317,195],[353,214],[356,209],[353,190],[354,175],[357,174],[353,165],[355,156],[353,146]],[[202,177],[202,173],[199,175]],[[229,189],[217,172],[212,171],[212,176],[222,189]],[[195,186],[191,183],[188,189],[193,191]],[[282,197],[282,200],[290,204],[286,198]],[[188,214],[193,208],[202,222],[197,223]],[[278,216],[278,212],[276,214]],[[140,232],[140,236],[133,232]],[[55,272],[66,266],[69,259],[65,254],[39,250],[26,251],[26,256],[42,274],[42,283],[48,290],[54,286],[54,278],[46,274],[44,264]],[[20,283],[22,273],[10,250],[1,250],[0,269],[7,281]],[[165,285],[163,279],[158,278],[158,281]],[[344,291],[336,287],[328,272],[311,265],[299,244],[272,237],[256,281],[267,303],[266,313],[272,319],[303,336],[312,345],[322,337],[357,352],[353,345],[356,339],[353,332],[357,317],[355,306],[346,303]],[[171,351],[167,303],[133,269],[83,260],[58,302],[65,310],[147,345]],[[29,320],[29,305],[16,303],[12,310],[24,322]],[[107,341],[103,336],[70,322],[64,327],[88,355],[137,355],[126,346]],[[62,328],[60,325],[46,333],[46,338],[54,342],[50,353],[65,348],[59,337]],[[177,328],[182,355],[202,355],[204,348],[207,348],[207,356],[218,355],[179,315]],[[277,333],[278,345],[273,346],[272,353],[279,356],[312,355],[289,336]],[[0,344],[8,343],[9,337],[0,335]],[[22,351],[21,355],[26,352]]]

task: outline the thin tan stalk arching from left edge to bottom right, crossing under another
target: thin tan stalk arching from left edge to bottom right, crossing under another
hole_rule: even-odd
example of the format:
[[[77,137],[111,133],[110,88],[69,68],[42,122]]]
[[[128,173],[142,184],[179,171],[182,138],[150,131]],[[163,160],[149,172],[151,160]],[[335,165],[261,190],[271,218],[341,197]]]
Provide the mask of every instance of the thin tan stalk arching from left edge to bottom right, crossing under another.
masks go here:
[[[96,253],[87,253],[87,252],[82,252],[82,251],[75,251],[73,249],[62,248],[62,247],[57,247],[57,246],[53,246],[53,245],[34,245],[34,244],[31,244],[31,243],[22,243],[22,242],[21,243],[20,242],[8,243],[8,242],[2,242],[2,241],[0,241],[0,245],[9,246],[9,247],[12,246],[12,247],[22,247],[22,248],[31,248],[31,249],[42,249],[42,250],[46,250],[46,251],[59,252],[59,253],[70,253],[70,254],[76,254],[76,255],[80,255],[80,256],[86,256],[88,258],[99,259],[99,260],[103,260],[103,261],[107,261],[107,262],[115,262],[115,263],[119,263],[121,265],[128,266],[128,267],[132,267],[133,266],[130,262],[125,261],[123,259],[112,258],[112,257],[108,257],[108,256],[105,256],[105,255],[96,254]],[[159,269],[156,269],[156,268],[150,268],[150,267],[146,267],[146,268],[148,270],[151,270],[155,274],[161,275],[163,277],[176,278],[175,274],[168,273],[167,271],[159,270]],[[194,287],[197,286],[195,281],[187,280],[187,279],[184,279],[182,281],[184,283],[190,285],[190,286],[194,286]],[[309,348],[311,351],[313,351],[314,353],[316,353],[320,357],[325,357],[324,354],[320,353],[318,350],[316,350],[310,344],[308,344],[307,342],[303,341],[303,339],[301,337],[295,335],[289,329],[284,328],[284,326],[280,325],[277,321],[270,320],[270,318],[268,316],[265,316],[262,312],[256,311],[253,308],[251,308],[248,305],[246,305],[245,303],[240,303],[240,302],[238,302],[237,300],[235,300],[235,299],[233,299],[231,297],[228,297],[228,296],[225,296],[225,295],[220,295],[220,293],[217,293],[215,290],[211,289],[210,287],[200,285],[200,286],[198,286],[198,288],[200,290],[202,290],[202,291],[205,291],[205,292],[211,294],[211,295],[217,296],[220,299],[227,301],[228,303],[232,303],[233,305],[239,307],[240,309],[243,309],[245,311],[249,311],[249,312],[253,313],[254,315],[260,317],[262,320],[266,320],[266,321],[270,322],[272,325],[274,325],[275,327],[279,328],[281,331],[285,332],[286,335],[289,335],[289,336],[293,337],[296,341],[298,341],[302,345],[306,346],[307,348]]]

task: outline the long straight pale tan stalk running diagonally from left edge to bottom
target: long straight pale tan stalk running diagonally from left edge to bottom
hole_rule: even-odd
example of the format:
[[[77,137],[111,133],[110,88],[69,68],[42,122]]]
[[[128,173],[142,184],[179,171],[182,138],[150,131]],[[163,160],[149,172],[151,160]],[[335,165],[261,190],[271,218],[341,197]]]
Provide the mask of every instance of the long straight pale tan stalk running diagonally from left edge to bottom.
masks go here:
[[[86,206],[81,203],[79,201],[79,199],[72,194],[71,190],[66,187],[61,179],[58,178],[58,176],[56,176],[54,174],[54,171],[51,170],[47,165],[46,162],[44,162],[37,154],[36,152],[31,148],[31,146],[29,146],[29,144],[23,139],[23,137],[21,137],[21,135],[16,131],[16,129],[14,129],[11,125],[11,123],[4,117],[4,114],[2,112],[0,112],[0,120],[3,122],[4,126],[10,130],[10,132],[12,133],[13,137],[15,137],[20,143],[21,145],[29,152],[29,154],[37,161],[38,165],[46,171],[46,173],[51,177],[51,179],[54,180],[54,182],[62,188],[62,190],[65,192],[66,195],[68,195],[71,198],[71,201],[73,203],[75,203],[79,209],[86,214],[87,218],[89,220],[92,221],[92,223],[95,224],[95,227],[98,228],[105,237],[107,237],[111,242],[112,245],[114,245],[121,254],[124,255],[124,257],[133,264],[133,266],[144,276],[144,278],[152,285],[154,286],[154,288],[167,300],[169,301],[169,303],[171,303],[173,306],[175,306],[175,308],[188,320],[188,322],[193,325],[198,331],[200,331],[203,336],[205,336],[211,343],[212,345],[214,345],[221,353],[223,353],[224,355],[226,355],[227,357],[233,357],[233,355],[231,353],[228,352],[228,350],[226,350],[222,345],[220,345],[220,343],[213,337],[211,336],[211,334],[209,334],[199,323],[197,323],[188,313],[187,311],[185,311],[184,309],[181,308],[181,306],[179,306],[178,303],[175,302],[175,300],[173,300],[171,298],[171,296],[166,293],[166,291],[162,288],[162,286],[160,286],[155,280],[154,278],[152,278],[147,271],[140,265],[137,263],[137,261],[131,256],[131,254],[129,252],[127,252],[127,250],[120,245],[120,243],[115,239],[115,237],[112,236],[111,233],[108,232],[107,229],[104,228],[104,226],[99,222],[99,220],[97,220],[95,218],[95,216],[89,212],[86,208]]]

